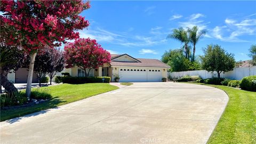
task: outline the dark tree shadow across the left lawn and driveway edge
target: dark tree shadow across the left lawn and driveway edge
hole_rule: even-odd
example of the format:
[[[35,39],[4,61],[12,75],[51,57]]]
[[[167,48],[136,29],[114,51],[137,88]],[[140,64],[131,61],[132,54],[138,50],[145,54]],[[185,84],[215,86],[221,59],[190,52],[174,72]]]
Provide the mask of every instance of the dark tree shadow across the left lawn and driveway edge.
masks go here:
[[[19,122],[22,118],[45,114],[49,111],[50,108],[58,109],[58,104],[61,102],[66,101],[60,100],[58,97],[54,97],[50,101],[39,103],[30,107],[1,110],[1,122],[7,119],[5,122],[12,124]]]

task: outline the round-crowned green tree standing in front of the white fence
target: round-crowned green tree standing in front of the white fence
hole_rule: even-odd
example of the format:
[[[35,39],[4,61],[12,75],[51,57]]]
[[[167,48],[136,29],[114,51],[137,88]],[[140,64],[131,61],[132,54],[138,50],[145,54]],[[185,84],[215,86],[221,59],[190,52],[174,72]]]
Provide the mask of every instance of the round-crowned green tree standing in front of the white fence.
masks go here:
[[[228,53],[219,45],[208,45],[204,50],[202,59],[202,67],[207,71],[217,71],[218,77],[222,71],[227,72],[235,67],[235,59],[233,53]]]

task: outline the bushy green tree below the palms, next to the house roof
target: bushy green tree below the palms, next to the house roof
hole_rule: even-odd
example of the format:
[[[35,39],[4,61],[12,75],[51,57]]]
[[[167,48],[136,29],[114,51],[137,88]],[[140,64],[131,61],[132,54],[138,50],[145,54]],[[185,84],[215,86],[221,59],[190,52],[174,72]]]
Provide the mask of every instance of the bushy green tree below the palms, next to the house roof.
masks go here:
[[[166,51],[162,56],[162,61],[171,67],[170,71],[199,70],[201,68],[198,61],[189,61],[180,49]]]

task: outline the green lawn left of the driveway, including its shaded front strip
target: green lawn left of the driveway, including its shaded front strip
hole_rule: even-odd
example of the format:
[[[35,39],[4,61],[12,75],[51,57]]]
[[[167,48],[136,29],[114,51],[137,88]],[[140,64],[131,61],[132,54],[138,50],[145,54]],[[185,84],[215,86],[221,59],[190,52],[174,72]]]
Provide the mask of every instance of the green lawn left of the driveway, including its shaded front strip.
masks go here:
[[[93,95],[116,90],[118,87],[107,83],[90,83],[60,84],[56,86],[41,87],[40,89],[49,91],[53,99],[31,107],[1,110],[1,121],[65,105],[70,102],[92,97]]]

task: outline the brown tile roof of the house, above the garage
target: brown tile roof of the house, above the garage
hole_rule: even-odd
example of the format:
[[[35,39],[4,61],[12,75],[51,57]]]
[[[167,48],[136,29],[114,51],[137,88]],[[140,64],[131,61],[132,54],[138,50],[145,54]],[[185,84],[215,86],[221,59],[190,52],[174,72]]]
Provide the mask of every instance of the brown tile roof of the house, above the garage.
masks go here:
[[[121,57],[124,54],[111,54],[111,60]],[[170,66],[166,65],[164,62],[157,59],[140,59],[135,58],[140,62],[121,62],[121,61],[111,61],[111,66],[127,66],[127,67],[163,67],[170,68]]]

